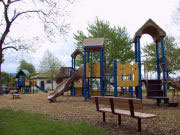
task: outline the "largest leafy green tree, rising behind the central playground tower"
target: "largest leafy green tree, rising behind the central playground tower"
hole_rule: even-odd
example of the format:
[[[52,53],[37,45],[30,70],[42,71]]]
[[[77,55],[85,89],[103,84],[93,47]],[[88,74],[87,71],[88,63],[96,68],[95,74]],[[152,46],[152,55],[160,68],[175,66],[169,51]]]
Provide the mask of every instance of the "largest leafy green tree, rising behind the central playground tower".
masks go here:
[[[77,48],[82,50],[82,44],[86,38],[103,37],[105,39],[107,71],[111,70],[114,59],[125,63],[131,62],[134,58],[132,40],[125,27],[112,27],[108,21],[102,21],[96,18],[93,24],[88,25],[87,30],[88,35],[85,35],[82,31],[77,31],[77,34],[74,34]],[[77,64],[80,63],[82,63],[82,60],[77,61]]]

